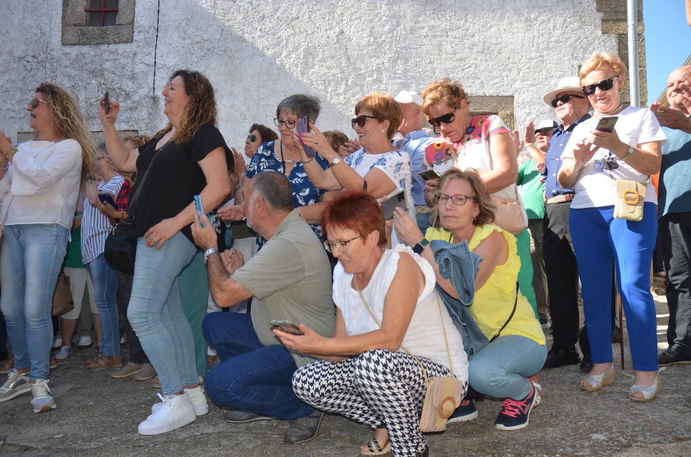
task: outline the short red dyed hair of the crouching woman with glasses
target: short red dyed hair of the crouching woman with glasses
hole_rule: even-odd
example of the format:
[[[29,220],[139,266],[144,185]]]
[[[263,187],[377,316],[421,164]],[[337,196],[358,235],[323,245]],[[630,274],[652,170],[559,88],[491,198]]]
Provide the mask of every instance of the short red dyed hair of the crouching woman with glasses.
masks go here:
[[[356,231],[363,238],[376,230],[379,231],[377,245],[386,245],[384,211],[375,197],[364,192],[343,192],[329,202],[321,215],[321,228],[328,235],[331,227]]]

